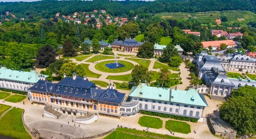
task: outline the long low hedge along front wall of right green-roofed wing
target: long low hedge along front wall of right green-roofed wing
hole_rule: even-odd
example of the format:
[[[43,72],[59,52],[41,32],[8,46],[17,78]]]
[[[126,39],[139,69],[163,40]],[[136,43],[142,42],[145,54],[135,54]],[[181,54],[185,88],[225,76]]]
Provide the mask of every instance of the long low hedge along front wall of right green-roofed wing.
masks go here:
[[[196,118],[189,118],[189,117],[183,117],[183,116],[177,116],[177,115],[171,115],[171,114],[165,114],[165,113],[157,113],[157,112],[142,111],[142,110],[140,110],[140,113],[150,115],[150,116],[159,116],[162,118],[171,118],[171,119],[176,119],[180,121],[198,122],[198,119]]]

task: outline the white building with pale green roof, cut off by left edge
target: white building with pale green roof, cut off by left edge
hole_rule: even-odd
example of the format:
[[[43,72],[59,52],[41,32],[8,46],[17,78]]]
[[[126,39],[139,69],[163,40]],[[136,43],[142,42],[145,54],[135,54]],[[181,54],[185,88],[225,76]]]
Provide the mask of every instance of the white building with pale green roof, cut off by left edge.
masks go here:
[[[48,75],[39,74],[32,70],[27,71],[15,71],[5,67],[0,68],[0,88],[24,91],[35,85],[39,79],[45,80]]]

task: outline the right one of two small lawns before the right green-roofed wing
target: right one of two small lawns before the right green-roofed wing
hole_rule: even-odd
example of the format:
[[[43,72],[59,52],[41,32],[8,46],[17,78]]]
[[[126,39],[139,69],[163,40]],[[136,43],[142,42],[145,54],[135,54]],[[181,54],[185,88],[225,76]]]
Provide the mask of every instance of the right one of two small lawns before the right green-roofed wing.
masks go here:
[[[173,132],[188,134],[191,132],[190,125],[186,122],[168,120],[166,121],[167,130],[172,130]]]

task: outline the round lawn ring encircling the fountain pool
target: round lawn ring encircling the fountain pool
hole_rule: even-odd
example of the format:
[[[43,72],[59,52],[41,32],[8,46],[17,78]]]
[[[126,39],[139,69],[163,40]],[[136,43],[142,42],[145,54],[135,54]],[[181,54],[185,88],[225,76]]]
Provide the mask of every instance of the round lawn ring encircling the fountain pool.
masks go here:
[[[108,73],[125,72],[125,71],[130,71],[131,69],[134,68],[134,65],[131,62],[122,61],[122,60],[118,60],[119,63],[124,65],[124,67],[122,67],[122,68],[110,69],[110,68],[105,66],[105,64],[109,64],[109,63],[113,63],[113,62],[115,62],[115,61],[114,60],[109,60],[109,61],[99,62],[95,65],[95,68],[99,71],[108,72]]]

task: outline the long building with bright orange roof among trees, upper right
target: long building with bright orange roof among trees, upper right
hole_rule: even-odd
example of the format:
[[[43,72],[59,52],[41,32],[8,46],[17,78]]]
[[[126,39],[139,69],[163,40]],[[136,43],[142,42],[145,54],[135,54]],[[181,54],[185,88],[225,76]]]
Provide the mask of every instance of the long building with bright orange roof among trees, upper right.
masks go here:
[[[236,46],[236,43],[233,40],[217,40],[217,41],[207,41],[207,42],[201,42],[203,45],[203,48],[207,48],[209,46],[212,46],[212,50],[220,49],[220,46],[222,43],[227,45],[227,48],[233,48]]]

